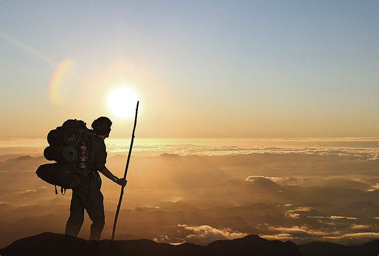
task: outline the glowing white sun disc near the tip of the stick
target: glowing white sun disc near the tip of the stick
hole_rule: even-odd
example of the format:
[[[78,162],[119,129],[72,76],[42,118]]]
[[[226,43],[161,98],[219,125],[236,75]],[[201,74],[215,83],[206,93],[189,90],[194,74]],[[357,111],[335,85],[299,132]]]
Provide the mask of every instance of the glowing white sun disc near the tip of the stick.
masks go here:
[[[132,88],[119,87],[108,96],[109,110],[119,118],[129,117],[135,113],[138,96]]]

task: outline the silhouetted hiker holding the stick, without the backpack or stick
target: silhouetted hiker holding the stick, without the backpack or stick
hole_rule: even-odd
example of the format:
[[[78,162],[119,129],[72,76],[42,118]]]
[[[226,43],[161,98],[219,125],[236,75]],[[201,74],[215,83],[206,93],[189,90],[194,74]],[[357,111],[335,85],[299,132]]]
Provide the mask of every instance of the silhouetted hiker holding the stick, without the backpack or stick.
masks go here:
[[[80,185],[72,188],[73,193],[70,205],[70,217],[67,221],[65,232],[66,235],[68,235],[68,242],[71,241],[70,236],[78,236],[84,221],[84,210],[86,210],[92,221],[89,240],[100,239],[105,224],[105,215],[103,204],[104,197],[100,191],[101,178],[99,172],[118,185],[125,186],[127,184],[126,179],[117,178],[105,166],[107,152],[104,140],[109,137],[111,125],[111,120],[104,116],[97,118],[91,124],[95,137],[90,143],[90,152],[88,152],[93,156],[92,159],[90,157],[91,168],[89,170],[90,173],[88,179]]]

